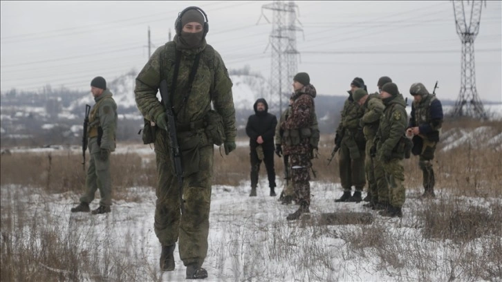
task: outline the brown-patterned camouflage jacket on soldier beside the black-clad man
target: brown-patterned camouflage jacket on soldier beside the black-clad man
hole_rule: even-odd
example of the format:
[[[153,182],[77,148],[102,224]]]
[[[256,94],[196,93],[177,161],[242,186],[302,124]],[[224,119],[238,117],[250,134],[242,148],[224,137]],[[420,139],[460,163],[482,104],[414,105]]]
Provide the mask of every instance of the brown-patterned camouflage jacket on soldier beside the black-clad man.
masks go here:
[[[313,147],[317,148],[319,130],[313,130],[313,125],[317,124],[314,107],[316,95],[317,92],[312,84],[308,84],[292,94],[293,103],[290,114],[287,120],[281,122],[283,130],[281,141],[285,155],[307,154],[311,153]]]

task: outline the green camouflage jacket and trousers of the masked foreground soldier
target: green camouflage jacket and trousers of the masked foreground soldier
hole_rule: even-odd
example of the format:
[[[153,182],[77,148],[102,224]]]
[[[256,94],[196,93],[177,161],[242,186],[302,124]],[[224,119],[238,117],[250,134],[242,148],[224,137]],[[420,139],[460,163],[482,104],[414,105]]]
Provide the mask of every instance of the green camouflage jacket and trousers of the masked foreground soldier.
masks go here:
[[[162,246],[174,245],[179,237],[180,259],[184,265],[200,267],[207,255],[214,155],[213,141],[205,133],[203,120],[212,102],[214,110],[223,118],[226,147],[226,142],[235,142],[235,110],[232,81],[219,53],[206,44],[205,39],[198,48],[176,48],[179,42],[176,35],[174,41],[167,42],[151,55],[136,77],[134,92],[142,115],[158,124],[155,119],[165,108],[156,97],[157,89],[162,79],[171,86],[178,50],[180,66],[176,89],[169,96],[182,151],[185,213],[180,214],[178,183],[171,164],[167,132],[158,129],[154,141],[158,173],[154,229]],[[189,73],[196,54],[201,52],[192,91],[185,101]]]

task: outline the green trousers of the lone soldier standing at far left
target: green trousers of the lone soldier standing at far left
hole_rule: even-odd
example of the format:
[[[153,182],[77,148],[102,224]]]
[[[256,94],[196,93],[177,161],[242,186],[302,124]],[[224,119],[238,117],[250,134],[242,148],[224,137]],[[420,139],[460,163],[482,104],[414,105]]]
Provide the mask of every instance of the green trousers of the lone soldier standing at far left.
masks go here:
[[[97,189],[100,189],[100,205],[109,207],[111,206],[110,156],[105,161],[101,160],[97,138],[89,138],[89,153],[91,160],[86,173],[86,191],[80,197],[80,203],[91,203]]]

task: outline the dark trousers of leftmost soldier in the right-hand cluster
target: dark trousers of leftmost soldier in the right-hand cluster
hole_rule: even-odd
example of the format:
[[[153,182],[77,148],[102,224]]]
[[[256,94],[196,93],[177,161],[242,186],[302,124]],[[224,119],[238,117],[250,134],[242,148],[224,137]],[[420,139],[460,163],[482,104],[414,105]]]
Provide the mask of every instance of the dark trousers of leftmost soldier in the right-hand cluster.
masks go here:
[[[338,169],[340,170],[340,182],[344,191],[351,191],[355,186],[355,191],[362,191],[366,185],[366,176],[364,175],[364,151],[360,151],[359,158],[351,158],[351,152],[347,145],[342,142],[338,160]]]

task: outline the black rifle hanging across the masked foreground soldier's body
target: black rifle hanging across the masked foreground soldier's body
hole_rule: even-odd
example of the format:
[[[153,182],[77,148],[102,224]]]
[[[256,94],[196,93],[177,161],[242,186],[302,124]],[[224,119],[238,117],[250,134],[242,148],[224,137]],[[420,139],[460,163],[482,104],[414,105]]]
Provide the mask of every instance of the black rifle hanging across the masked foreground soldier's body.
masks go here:
[[[183,166],[181,165],[181,150],[178,144],[178,136],[176,135],[176,120],[173,110],[171,109],[171,104],[169,103],[169,91],[165,79],[160,82],[158,90],[160,91],[160,97],[162,97],[162,102],[164,102],[165,106],[165,115],[167,118],[167,128],[165,128],[165,131],[167,131],[169,144],[171,145],[169,149],[171,150],[171,161],[174,166],[174,173],[176,174],[176,178],[178,178],[181,214],[184,214],[185,204],[183,203]]]

